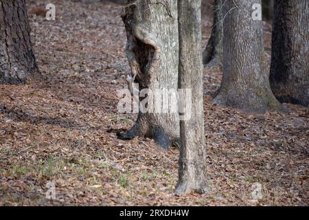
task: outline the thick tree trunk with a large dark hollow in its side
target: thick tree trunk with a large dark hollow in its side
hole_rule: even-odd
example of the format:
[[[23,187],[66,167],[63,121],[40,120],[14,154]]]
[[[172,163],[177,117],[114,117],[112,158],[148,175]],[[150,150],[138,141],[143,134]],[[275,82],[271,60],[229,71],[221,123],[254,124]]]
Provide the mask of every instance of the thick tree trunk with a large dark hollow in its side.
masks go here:
[[[178,89],[179,42],[177,0],[126,1],[122,15],[126,26],[126,53],[139,89]],[[153,97],[157,100],[158,97]],[[176,100],[174,100],[176,101]],[[149,103],[148,103],[149,104]],[[157,102],[153,109],[159,107]],[[179,113],[142,113],[125,135],[154,138],[163,148],[179,139]]]

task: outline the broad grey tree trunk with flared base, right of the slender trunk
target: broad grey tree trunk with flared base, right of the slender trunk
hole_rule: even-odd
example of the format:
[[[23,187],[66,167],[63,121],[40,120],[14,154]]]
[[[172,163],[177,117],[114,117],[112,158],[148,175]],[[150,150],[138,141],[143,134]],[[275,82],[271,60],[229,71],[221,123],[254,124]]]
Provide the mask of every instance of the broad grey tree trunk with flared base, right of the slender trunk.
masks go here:
[[[223,34],[223,77],[215,104],[264,113],[282,109],[264,65],[262,21],[253,20],[256,0],[226,1]]]

